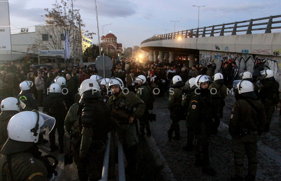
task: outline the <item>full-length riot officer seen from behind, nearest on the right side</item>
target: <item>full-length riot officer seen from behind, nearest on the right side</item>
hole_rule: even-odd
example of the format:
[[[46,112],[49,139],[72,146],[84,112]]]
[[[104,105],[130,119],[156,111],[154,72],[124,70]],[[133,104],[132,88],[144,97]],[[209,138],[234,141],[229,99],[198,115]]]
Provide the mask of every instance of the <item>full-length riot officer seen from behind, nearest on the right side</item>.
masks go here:
[[[243,180],[243,165],[246,154],[248,158],[246,180],[254,181],[257,171],[257,136],[261,136],[265,127],[265,108],[257,100],[253,84],[250,81],[241,80],[236,87],[240,99],[235,101],[232,106],[228,128],[228,132],[232,136],[231,144],[234,153],[234,180]]]

